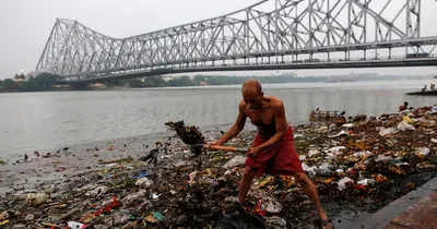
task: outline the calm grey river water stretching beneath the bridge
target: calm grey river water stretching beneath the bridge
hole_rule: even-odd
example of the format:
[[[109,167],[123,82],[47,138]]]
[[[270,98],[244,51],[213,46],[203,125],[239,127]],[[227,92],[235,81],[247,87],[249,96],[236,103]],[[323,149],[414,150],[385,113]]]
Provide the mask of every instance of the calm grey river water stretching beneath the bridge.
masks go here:
[[[434,80],[435,81],[435,80]],[[283,99],[288,122],[306,122],[312,109],[346,116],[397,112],[437,104],[435,97],[406,96],[432,81],[299,83],[263,85]],[[436,82],[434,82],[436,83]],[[0,94],[0,158],[71,144],[165,131],[164,122],[211,128],[233,123],[240,85],[153,89]],[[225,130],[224,130],[225,131]]]

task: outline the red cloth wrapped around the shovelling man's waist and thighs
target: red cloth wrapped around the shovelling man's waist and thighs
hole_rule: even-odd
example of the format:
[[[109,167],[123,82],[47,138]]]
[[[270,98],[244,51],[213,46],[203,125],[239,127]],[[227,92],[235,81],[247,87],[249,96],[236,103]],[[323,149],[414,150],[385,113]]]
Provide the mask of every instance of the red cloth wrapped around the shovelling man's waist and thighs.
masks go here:
[[[252,147],[259,146],[269,138],[264,138],[257,133]],[[283,140],[264,148],[253,157],[247,157],[245,166],[258,169],[256,178],[264,172],[269,174],[293,174],[294,172],[304,172],[299,157],[293,144],[293,129],[288,128]]]

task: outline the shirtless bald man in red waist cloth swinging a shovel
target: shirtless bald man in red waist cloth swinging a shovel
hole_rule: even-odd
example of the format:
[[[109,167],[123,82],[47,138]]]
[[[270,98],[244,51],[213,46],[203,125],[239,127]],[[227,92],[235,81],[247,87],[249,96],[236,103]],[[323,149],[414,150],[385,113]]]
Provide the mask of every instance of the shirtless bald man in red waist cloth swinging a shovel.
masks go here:
[[[293,130],[285,118],[281,99],[264,96],[261,84],[255,80],[245,82],[243,100],[238,105],[235,124],[211,145],[222,145],[236,136],[245,126],[246,119],[257,125],[258,133],[247,153],[245,171],[238,188],[238,202],[245,203],[253,177],[262,173],[291,174],[311,200],[319,214],[322,228],[333,228],[332,221],[321,207],[316,186],[306,176],[293,144]]]

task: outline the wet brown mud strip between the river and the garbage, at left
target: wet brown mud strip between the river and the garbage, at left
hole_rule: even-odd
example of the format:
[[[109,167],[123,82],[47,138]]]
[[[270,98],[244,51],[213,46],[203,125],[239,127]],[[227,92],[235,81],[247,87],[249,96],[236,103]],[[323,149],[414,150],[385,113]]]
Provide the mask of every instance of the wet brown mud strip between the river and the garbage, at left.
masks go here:
[[[229,124],[226,124],[200,128],[200,130],[206,137],[216,138],[221,135],[220,131],[226,131],[229,126]],[[246,124],[246,129],[255,130],[249,123]],[[105,165],[98,164],[102,160],[145,156],[151,149],[155,148],[156,142],[166,141],[174,135],[175,132],[168,130],[163,133],[91,141],[74,145],[69,145],[66,142],[67,147],[69,147],[67,150],[63,150],[63,147],[35,148],[34,152],[23,152],[21,155],[0,156],[0,197],[16,190],[35,189],[35,186],[44,183],[62,181],[68,176],[102,169],[105,167]],[[178,144],[182,145],[181,142],[178,142]],[[26,160],[25,155],[28,156]],[[62,171],[57,171],[57,169]]]

